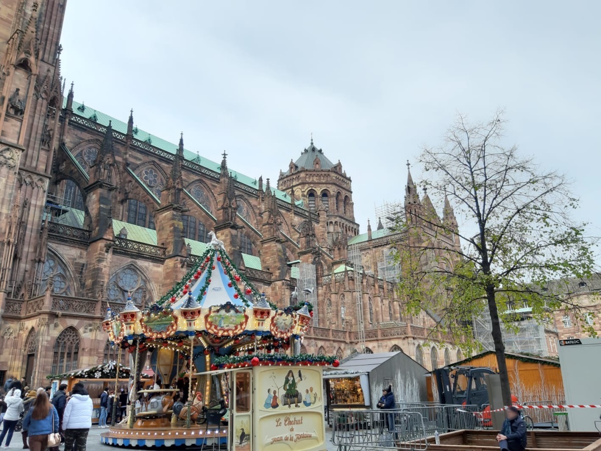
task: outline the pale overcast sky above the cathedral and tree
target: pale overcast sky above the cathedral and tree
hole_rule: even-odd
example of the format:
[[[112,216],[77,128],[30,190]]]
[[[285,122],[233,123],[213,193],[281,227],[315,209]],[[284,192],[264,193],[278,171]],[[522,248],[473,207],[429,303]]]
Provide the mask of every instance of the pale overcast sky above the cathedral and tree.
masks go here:
[[[507,145],[566,173],[601,236],[600,16],[598,1],[69,0],[61,73],[76,101],[133,108],[139,128],[272,183],[313,133],[352,178],[361,232],[458,112],[502,108]]]

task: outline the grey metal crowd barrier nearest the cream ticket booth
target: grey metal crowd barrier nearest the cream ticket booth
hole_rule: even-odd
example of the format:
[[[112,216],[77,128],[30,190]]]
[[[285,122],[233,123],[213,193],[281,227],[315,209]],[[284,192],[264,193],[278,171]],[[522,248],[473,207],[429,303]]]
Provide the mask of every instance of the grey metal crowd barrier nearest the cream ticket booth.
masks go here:
[[[332,443],[338,451],[426,450],[421,414],[398,409],[332,411]]]

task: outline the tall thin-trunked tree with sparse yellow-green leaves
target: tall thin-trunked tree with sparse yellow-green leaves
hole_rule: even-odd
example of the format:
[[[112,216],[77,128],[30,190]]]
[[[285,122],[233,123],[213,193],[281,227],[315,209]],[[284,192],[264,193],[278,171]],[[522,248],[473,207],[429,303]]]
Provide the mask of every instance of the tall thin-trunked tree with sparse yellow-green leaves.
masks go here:
[[[503,399],[510,405],[501,326],[511,327],[511,306],[527,305],[538,321],[548,321],[552,310],[577,308],[546,287],[551,280],[588,277],[594,256],[586,224],[570,217],[578,200],[566,177],[540,170],[516,146],[503,147],[504,124],[501,111],[475,125],[459,115],[442,146],[423,150],[424,186],[444,201],[445,216],[438,218],[430,194],[427,202],[409,202],[402,225],[409,236],[397,258],[404,308],[435,312],[438,328],[462,346],[475,345],[472,319],[488,308]],[[461,247],[450,246],[449,236]]]

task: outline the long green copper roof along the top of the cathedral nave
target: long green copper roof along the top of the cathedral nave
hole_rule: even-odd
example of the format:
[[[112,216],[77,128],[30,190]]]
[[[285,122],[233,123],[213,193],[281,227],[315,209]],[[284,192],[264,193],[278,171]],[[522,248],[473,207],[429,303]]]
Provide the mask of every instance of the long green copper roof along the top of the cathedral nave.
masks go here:
[[[63,108],[66,105],[67,97],[64,97]],[[79,117],[84,117],[86,119],[95,121],[96,123],[105,127],[108,126],[109,121],[111,121],[111,126],[113,130],[115,130],[115,132],[123,134],[127,133],[127,123],[120,121],[114,117],[111,117],[108,114],[104,114],[103,112],[97,111],[94,108],[90,108],[90,106],[84,105],[83,103],[73,102],[73,114],[76,114]],[[136,138],[136,140],[145,141],[146,143],[151,144],[152,146],[157,147],[158,149],[164,150],[165,152],[169,152],[172,154],[175,154],[175,152],[177,152],[177,144],[169,143],[169,141],[165,141],[162,138],[157,137],[156,135],[152,135],[151,133],[145,132],[144,130],[139,129],[138,127],[134,127],[133,137]],[[219,172],[221,170],[221,163],[216,163],[208,158],[199,156],[197,153],[191,152],[190,150],[184,149],[184,157],[187,160],[194,161],[196,164],[208,168],[212,171]],[[258,189],[257,179],[245,176],[244,174],[241,174],[237,171],[230,170],[230,172],[234,179],[238,180],[238,182],[242,183],[243,185],[251,186],[252,188]],[[285,192],[279,191],[279,189],[273,189],[273,193],[278,199],[290,203],[290,196]],[[296,205],[299,206],[298,202],[296,202]]]

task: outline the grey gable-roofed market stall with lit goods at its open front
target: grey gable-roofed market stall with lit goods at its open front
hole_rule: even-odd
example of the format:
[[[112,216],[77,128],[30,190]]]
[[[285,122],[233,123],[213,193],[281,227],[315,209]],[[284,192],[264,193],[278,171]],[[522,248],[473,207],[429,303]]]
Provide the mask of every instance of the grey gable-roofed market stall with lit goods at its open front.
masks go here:
[[[375,409],[389,384],[397,404],[424,402],[427,372],[403,352],[353,354],[323,372],[328,410]]]

